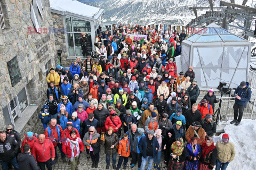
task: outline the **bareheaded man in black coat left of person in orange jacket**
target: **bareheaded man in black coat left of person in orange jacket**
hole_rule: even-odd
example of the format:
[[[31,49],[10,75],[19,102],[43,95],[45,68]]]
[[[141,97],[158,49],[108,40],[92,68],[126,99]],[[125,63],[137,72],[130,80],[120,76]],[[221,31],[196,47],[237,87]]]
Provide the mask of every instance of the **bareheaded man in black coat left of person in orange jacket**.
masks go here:
[[[189,108],[186,112],[185,118],[186,118],[186,129],[189,128],[190,125],[192,125],[193,122],[201,122],[202,120],[202,114],[197,109],[198,105],[193,104],[192,108]],[[193,126],[193,125],[192,125]]]

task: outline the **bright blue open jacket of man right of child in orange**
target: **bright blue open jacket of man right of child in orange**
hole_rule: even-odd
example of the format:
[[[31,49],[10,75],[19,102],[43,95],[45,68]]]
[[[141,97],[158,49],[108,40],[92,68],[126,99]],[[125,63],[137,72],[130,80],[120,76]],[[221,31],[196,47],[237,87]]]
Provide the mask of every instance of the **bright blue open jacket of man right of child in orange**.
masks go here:
[[[126,133],[129,136],[130,151],[133,151],[133,152],[136,152],[136,153],[140,154],[140,149],[139,149],[138,145],[139,145],[140,139],[142,137],[144,137],[145,134],[137,129],[137,131],[135,133],[135,136],[134,136],[134,139],[133,139],[132,138],[132,131],[131,131],[131,129],[129,131],[127,131]]]

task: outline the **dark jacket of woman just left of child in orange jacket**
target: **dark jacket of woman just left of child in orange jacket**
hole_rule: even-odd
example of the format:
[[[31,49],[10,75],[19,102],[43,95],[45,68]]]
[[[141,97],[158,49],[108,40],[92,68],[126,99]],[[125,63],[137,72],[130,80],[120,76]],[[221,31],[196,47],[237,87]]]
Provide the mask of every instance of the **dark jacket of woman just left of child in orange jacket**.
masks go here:
[[[105,154],[106,155],[115,155],[116,154],[116,146],[118,145],[119,142],[119,138],[117,136],[117,134],[112,133],[111,135],[109,135],[108,133],[105,134],[105,142],[104,146],[105,146]],[[114,148],[110,148],[112,145],[114,145]]]

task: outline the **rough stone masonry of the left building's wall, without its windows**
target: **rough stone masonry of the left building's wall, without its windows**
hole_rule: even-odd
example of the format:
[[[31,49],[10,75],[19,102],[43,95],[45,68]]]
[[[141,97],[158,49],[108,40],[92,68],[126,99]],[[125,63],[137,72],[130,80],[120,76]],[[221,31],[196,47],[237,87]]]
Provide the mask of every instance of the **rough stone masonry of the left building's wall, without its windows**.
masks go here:
[[[53,27],[50,3],[44,0],[42,20],[40,23],[42,33],[34,30],[33,22],[30,18],[31,3],[29,0],[2,0],[1,6],[4,14],[5,29],[0,29],[0,129],[4,129],[10,123],[10,114],[7,109],[10,101],[21,94],[26,88],[28,102],[21,100],[19,107],[25,104],[42,106],[46,99],[46,72],[50,67],[55,67],[54,58],[56,56],[54,34],[49,33],[49,28]],[[36,9],[37,10],[37,9]],[[17,57],[18,69],[21,80],[12,86],[7,62]],[[21,94],[21,96],[26,96]],[[23,105],[22,105],[23,104]],[[29,107],[29,106],[28,106]],[[38,112],[31,114],[26,127],[26,131],[31,130],[33,124],[38,119]],[[18,118],[26,113],[18,114]],[[17,122],[15,119],[14,123]],[[15,125],[17,126],[17,124]]]

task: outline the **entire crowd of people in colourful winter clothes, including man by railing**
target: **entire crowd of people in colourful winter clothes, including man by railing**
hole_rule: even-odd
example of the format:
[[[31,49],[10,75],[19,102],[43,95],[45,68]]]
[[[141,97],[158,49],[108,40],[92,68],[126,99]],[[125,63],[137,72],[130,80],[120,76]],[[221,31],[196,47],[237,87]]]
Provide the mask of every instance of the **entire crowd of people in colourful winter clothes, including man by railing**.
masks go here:
[[[113,26],[113,38],[108,31],[98,30],[99,60],[77,57],[70,67],[50,69],[48,99],[39,113],[44,134],[36,137],[27,132],[20,150],[21,139],[13,125],[0,132],[3,170],[9,164],[15,170],[52,169],[58,159],[57,147],[63,164],[70,164],[72,170],[78,169],[82,152],[91,159],[91,167],[98,168],[102,148],[106,169],[110,157],[113,169],[126,169],[129,158],[129,166],[141,170],[146,165],[148,170],[151,166],[226,169],[234,160],[235,148],[228,134],[214,145],[212,115],[218,99],[213,89],[197,104],[199,88],[193,67],[177,75],[175,56],[186,38],[184,31],[168,35],[138,24]],[[147,40],[131,40],[129,33],[147,35]],[[241,121],[248,98],[244,96],[248,84],[241,84],[236,91],[236,101],[241,101],[236,106],[239,118],[234,123]]]

